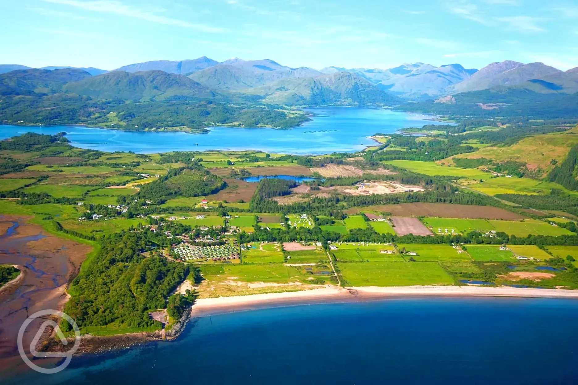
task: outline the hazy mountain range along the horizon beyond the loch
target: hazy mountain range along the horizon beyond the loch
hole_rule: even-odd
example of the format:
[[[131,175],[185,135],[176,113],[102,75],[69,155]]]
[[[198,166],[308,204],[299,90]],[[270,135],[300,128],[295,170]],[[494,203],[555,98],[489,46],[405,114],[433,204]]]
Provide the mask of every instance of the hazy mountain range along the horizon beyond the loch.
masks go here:
[[[578,68],[503,61],[484,68],[404,63],[389,69],[291,68],[271,59],[217,62],[207,57],[96,68],[0,65],[0,94],[66,92],[98,99],[158,101],[197,98],[286,105],[387,105],[440,99],[499,87],[539,94],[578,92]],[[447,96],[450,96],[448,99]]]

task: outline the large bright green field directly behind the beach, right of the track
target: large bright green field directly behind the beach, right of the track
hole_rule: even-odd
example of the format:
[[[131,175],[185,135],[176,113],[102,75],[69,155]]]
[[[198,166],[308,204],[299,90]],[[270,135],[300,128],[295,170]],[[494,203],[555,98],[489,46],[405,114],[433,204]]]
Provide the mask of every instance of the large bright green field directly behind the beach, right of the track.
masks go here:
[[[435,262],[344,262],[338,263],[351,286],[451,285],[454,280]]]

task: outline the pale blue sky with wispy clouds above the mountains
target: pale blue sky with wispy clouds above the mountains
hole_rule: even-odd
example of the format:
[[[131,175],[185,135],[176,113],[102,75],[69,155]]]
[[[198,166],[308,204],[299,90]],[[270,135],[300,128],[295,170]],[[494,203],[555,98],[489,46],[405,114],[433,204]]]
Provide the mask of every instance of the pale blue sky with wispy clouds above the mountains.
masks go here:
[[[114,69],[149,60],[292,67],[578,66],[576,0],[0,0],[0,63]]]

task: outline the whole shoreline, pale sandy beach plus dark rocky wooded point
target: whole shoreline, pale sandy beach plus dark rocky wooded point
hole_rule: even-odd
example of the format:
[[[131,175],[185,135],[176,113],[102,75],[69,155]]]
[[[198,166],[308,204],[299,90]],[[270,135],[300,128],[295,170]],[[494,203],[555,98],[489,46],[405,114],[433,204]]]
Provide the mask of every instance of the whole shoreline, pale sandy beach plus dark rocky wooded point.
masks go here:
[[[227,313],[273,309],[285,306],[306,306],[320,304],[345,304],[384,300],[409,300],[429,298],[553,298],[576,299],[578,290],[532,289],[517,287],[482,286],[327,286],[319,289],[301,291],[283,291],[281,293],[250,294],[218,298],[198,298],[190,312],[183,316],[182,322],[173,335],[165,338],[163,331],[133,332],[114,335],[83,335],[77,355],[110,352],[128,349],[131,346],[155,341],[175,341],[187,327],[188,322],[196,318],[222,315]],[[58,351],[58,348],[57,348]]]

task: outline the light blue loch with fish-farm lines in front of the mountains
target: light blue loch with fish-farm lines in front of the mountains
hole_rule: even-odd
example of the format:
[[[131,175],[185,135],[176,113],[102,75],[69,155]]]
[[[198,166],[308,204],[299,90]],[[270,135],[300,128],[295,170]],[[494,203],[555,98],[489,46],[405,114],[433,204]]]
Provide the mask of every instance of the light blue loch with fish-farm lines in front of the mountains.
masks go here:
[[[258,149],[283,154],[328,154],[356,151],[376,144],[367,139],[375,133],[393,133],[401,128],[440,124],[428,121],[431,115],[400,111],[328,107],[310,110],[313,120],[290,130],[211,128],[208,134],[183,132],[126,132],[82,126],[23,127],[0,126],[0,139],[38,132],[65,131],[76,147],[101,151],[134,151],[143,154],[165,151],[205,151],[209,149]],[[198,145],[197,145],[198,143]]]

